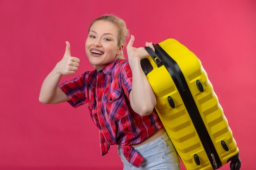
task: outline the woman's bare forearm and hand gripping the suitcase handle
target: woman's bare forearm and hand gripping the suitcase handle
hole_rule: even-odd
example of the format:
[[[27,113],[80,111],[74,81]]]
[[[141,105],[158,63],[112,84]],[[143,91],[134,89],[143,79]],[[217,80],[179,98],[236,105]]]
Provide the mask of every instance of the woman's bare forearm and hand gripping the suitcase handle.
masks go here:
[[[149,54],[144,47],[133,47],[133,42],[134,36],[131,35],[126,47],[132,71],[132,90],[129,94],[130,105],[132,110],[139,115],[149,115],[156,106],[156,98],[140,63],[141,59],[146,58]],[[154,50],[151,42],[146,42],[145,46]]]

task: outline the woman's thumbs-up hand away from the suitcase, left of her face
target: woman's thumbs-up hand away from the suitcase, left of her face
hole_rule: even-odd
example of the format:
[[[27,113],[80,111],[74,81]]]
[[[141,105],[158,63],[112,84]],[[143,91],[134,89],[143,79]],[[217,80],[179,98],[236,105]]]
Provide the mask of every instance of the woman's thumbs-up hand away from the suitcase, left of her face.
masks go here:
[[[62,75],[72,75],[74,74],[79,66],[79,58],[72,57],[70,52],[70,43],[66,41],[66,50],[63,58],[56,64],[56,69],[58,73]]]

